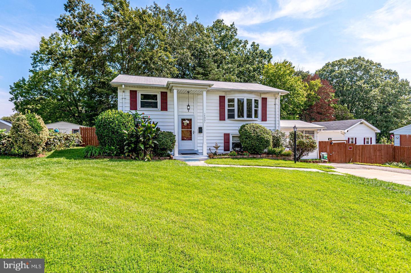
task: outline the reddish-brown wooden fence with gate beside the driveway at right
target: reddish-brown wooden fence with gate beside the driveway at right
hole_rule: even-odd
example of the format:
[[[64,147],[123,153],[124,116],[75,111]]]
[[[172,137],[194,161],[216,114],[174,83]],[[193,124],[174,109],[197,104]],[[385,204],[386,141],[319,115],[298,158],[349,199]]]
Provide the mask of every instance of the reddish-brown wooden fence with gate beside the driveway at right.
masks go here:
[[[389,161],[411,161],[411,147],[374,144],[356,145],[346,141],[319,141],[319,153],[326,152],[332,163],[372,163],[383,164]]]

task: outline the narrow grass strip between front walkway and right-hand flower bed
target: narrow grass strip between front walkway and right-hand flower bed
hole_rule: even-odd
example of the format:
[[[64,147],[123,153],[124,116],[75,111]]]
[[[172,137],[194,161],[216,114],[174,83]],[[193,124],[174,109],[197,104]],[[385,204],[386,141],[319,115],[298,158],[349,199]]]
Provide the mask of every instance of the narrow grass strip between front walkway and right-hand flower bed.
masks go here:
[[[205,161],[208,164],[220,165],[243,165],[243,166],[266,166],[266,167],[289,167],[318,169],[325,172],[333,172],[332,166],[319,165],[317,163],[297,162],[290,160],[268,159],[268,158],[211,158]]]

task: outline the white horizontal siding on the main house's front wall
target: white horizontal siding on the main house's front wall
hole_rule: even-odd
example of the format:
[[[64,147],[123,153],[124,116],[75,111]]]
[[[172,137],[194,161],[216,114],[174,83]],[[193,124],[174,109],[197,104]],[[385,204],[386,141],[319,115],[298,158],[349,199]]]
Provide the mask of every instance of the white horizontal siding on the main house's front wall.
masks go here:
[[[156,89],[156,91],[147,92],[165,92],[167,91],[167,111],[160,111],[154,109],[144,109],[137,111],[130,111],[130,89],[139,90],[138,92],[145,92],[143,88],[125,88],[125,101],[124,109],[122,109],[122,88],[118,89],[118,110],[123,110],[124,112],[139,112],[149,115],[154,122],[158,122],[159,128],[162,131],[171,131],[174,133],[174,96],[173,92],[169,90]],[[158,91],[157,91],[158,90]],[[258,92],[250,93],[234,93],[234,92],[215,92],[208,91],[207,93],[207,111],[206,111],[206,122],[207,122],[207,152],[215,142],[218,145],[224,146],[224,133],[229,133],[230,135],[238,135],[238,128],[245,123],[259,123],[270,130],[275,130],[279,128],[279,99],[278,94],[260,94]],[[219,96],[228,97],[243,97],[259,99],[259,119],[228,119],[226,112],[226,120],[219,120]],[[261,97],[267,98],[267,121],[261,122]],[[187,93],[177,94],[178,99],[178,115],[193,115],[195,114],[195,127],[194,130],[194,149],[199,151],[199,154],[203,152],[203,133],[199,133],[199,127],[203,127],[203,94],[189,94],[189,101],[187,100]],[[190,111],[187,112],[187,103],[190,104]],[[161,105],[161,102],[159,102]],[[227,107],[226,107],[227,110]],[[254,109],[253,109],[254,110]],[[204,127],[203,127],[204,128]],[[231,145],[230,145],[231,148]],[[220,148],[222,149],[222,147]],[[222,151],[222,150],[221,150]]]

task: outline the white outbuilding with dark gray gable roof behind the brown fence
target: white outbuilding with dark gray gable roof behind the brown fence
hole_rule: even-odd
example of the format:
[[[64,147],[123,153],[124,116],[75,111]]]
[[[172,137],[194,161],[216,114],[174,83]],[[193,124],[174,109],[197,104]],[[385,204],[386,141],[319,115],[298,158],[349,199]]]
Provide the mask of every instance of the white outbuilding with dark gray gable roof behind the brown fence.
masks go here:
[[[380,130],[365,119],[338,120],[333,122],[313,122],[324,128],[318,132],[318,140],[348,140],[357,145],[375,144],[376,133]]]

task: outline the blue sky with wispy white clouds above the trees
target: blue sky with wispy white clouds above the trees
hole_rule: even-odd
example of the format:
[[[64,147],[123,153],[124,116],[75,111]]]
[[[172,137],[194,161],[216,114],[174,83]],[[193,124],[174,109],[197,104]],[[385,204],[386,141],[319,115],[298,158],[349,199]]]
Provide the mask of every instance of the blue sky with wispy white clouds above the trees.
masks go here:
[[[97,10],[101,1],[89,0]],[[271,48],[273,61],[290,60],[314,72],[326,62],[362,55],[411,79],[411,1],[407,0],[159,0],[182,7],[204,25],[235,22],[239,37]],[[64,0],[5,1],[0,9],[0,117],[12,114],[9,85],[28,76],[40,38],[56,31]],[[130,0],[132,7],[152,1]]]

